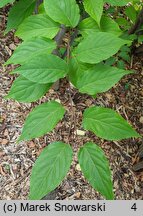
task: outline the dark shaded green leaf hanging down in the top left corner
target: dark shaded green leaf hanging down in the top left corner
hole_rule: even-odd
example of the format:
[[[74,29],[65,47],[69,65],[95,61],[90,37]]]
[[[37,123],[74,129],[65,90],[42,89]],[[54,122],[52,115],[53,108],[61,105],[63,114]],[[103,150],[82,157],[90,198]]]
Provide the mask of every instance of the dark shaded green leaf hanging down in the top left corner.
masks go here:
[[[6,33],[11,29],[17,29],[23,20],[31,15],[35,8],[35,0],[20,0],[18,1],[9,12]]]

